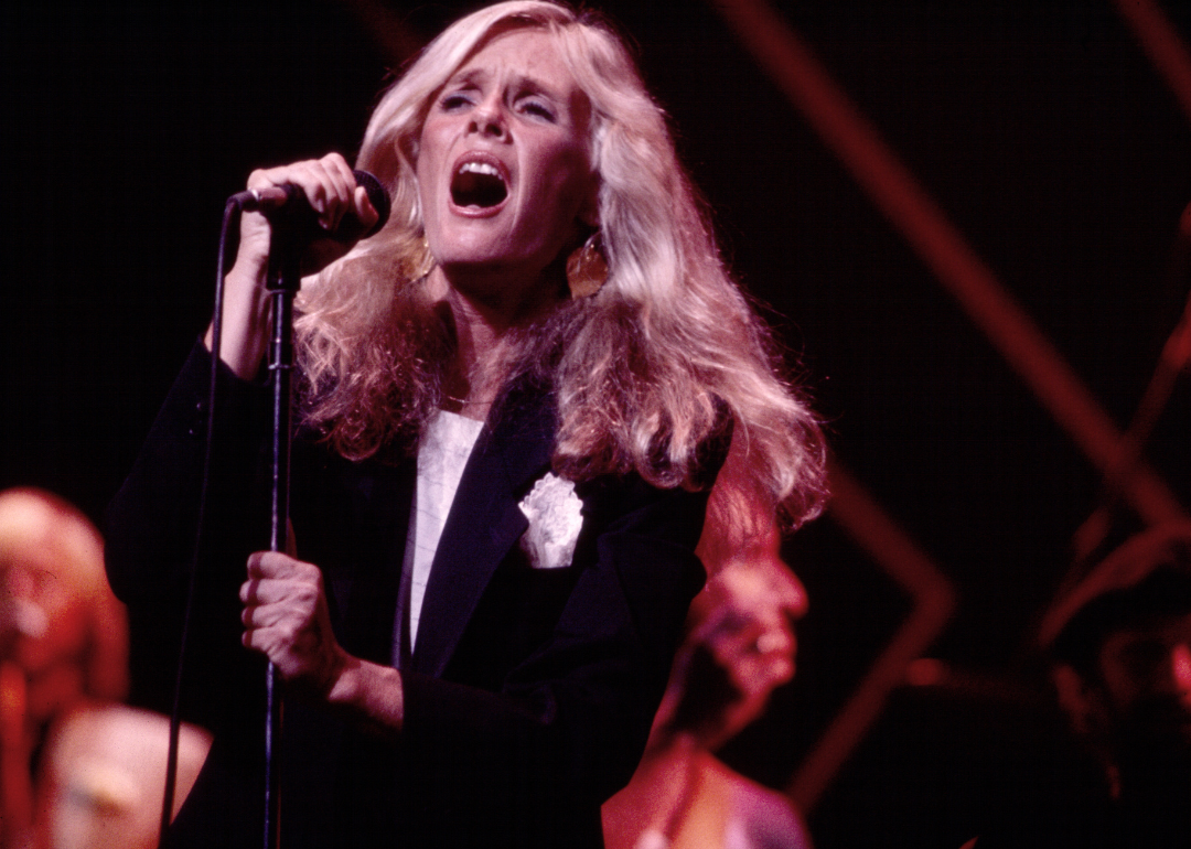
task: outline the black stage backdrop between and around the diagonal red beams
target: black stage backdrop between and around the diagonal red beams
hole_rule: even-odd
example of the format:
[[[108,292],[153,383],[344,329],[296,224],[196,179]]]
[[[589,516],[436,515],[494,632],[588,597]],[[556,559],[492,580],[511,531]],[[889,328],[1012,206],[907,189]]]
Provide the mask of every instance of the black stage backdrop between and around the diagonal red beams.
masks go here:
[[[384,5],[416,38],[472,6]],[[1099,474],[709,5],[596,5],[640,44],[836,455],[959,593],[931,648],[955,674],[892,695],[816,839],[958,847],[1047,782],[1024,647]],[[775,7],[1123,426],[1186,296],[1191,123],[1115,5]],[[389,63],[335,0],[0,8],[0,486],[100,519],[208,319],[224,199],[256,166],[350,157]],[[1189,404],[1184,381],[1148,451],[1184,502]],[[788,556],[811,594],[799,678],[725,753],[775,787],[911,606],[829,518]]]

